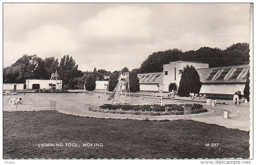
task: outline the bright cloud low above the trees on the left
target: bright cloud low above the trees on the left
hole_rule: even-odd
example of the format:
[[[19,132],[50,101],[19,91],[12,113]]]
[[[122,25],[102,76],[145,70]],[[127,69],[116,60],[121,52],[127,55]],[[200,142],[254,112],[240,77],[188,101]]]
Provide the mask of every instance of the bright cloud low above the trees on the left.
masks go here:
[[[31,30],[22,40],[5,42],[3,47],[4,55],[12,55],[4,56],[5,63],[9,63],[15,62],[23,54],[36,54],[42,59],[63,57],[78,49],[78,44],[72,40],[72,32],[69,30],[56,24],[47,24]]]

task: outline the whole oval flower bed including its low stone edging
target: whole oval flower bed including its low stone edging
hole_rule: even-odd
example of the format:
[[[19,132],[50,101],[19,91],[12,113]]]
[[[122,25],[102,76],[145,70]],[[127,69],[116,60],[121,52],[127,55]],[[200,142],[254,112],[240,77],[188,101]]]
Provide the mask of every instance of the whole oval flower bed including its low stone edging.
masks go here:
[[[183,115],[184,106],[191,107],[191,113],[207,112],[201,104],[166,104],[161,105],[101,105],[89,108],[90,111],[132,115]]]

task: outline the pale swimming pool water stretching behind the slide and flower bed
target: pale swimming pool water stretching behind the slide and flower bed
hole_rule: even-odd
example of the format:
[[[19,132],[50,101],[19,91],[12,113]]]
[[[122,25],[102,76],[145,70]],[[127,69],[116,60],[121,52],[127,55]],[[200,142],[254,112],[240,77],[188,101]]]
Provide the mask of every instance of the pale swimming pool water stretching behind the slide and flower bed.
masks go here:
[[[109,94],[89,92],[89,93],[19,93],[15,96],[3,96],[3,110],[14,110],[11,108],[11,98],[21,97],[21,104],[17,110],[50,110],[50,101],[56,101],[58,109],[88,109],[103,104],[111,104],[108,100]],[[185,101],[184,101],[185,102]],[[174,104],[184,103],[175,100]],[[163,104],[171,103],[171,100],[163,100]],[[187,103],[187,102],[186,102]],[[131,96],[131,104],[160,104],[160,97]],[[16,110],[16,108],[15,108]]]

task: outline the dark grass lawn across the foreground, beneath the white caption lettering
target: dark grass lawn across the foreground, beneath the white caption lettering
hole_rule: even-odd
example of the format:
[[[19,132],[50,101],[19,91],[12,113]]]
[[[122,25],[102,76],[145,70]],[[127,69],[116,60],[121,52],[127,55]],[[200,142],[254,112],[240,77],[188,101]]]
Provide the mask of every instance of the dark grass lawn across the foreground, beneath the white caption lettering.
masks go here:
[[[38,147],[38,143],[64,146]],[[66,143],[81,147],[66,147]],[[83,147],[82,143],[103,146]],[[219,144],[211,147],[211,143]],[[3,158],[249,158],[249,132],[192,120],[98,119],[57,111],[4,111]]]

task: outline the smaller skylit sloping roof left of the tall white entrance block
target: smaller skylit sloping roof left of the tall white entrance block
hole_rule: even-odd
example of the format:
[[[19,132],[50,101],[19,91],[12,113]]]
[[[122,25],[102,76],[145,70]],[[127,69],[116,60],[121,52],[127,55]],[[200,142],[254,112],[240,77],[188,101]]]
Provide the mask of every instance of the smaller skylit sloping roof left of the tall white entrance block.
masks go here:
[[[163,72],[140,73],[138,74],[140,84],[160,84],[163,85]]]

